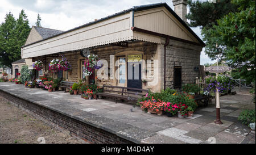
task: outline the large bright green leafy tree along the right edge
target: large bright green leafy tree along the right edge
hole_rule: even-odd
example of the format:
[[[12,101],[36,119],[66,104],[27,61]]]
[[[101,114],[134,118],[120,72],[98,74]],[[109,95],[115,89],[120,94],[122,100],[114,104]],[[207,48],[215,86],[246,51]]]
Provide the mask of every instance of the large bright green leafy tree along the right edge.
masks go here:
[[[238,11],[218,19],[212,28],[203,28],[205,53],[212,59],[225,60],[236,76],[255,81],[255,0],[233,0],[232,3]]]

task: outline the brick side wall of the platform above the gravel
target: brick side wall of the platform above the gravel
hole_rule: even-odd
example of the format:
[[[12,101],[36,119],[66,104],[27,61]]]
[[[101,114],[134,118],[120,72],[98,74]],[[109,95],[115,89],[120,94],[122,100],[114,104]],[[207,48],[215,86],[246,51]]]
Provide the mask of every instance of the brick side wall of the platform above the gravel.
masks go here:
[[[50,110],[28,100],[15,97],[14,95],[6,93],[5,91],[0,90],[0,95],[9,100],[15,106],[18,106],[22,110],[25,110],[43,122],[61,131],[68,130],[72,135],[79,137],[86,143],[133,143],[131,141],[122,139],[113,133],[93,127],[92,125],[85,124],[79,120],[69,118],[68,116],[60,114],[59,112]]]

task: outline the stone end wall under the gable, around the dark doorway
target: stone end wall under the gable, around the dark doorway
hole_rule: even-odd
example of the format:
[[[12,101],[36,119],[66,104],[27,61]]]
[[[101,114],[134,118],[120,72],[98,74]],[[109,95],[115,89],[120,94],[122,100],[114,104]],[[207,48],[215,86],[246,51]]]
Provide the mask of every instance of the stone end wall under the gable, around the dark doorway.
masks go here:
[[[170,40],[166,48],[166,87],[174,86],[174,65],[181,66],[182,84],[194,83],[199,72],[194,68],[200,65],[202,47]]]

